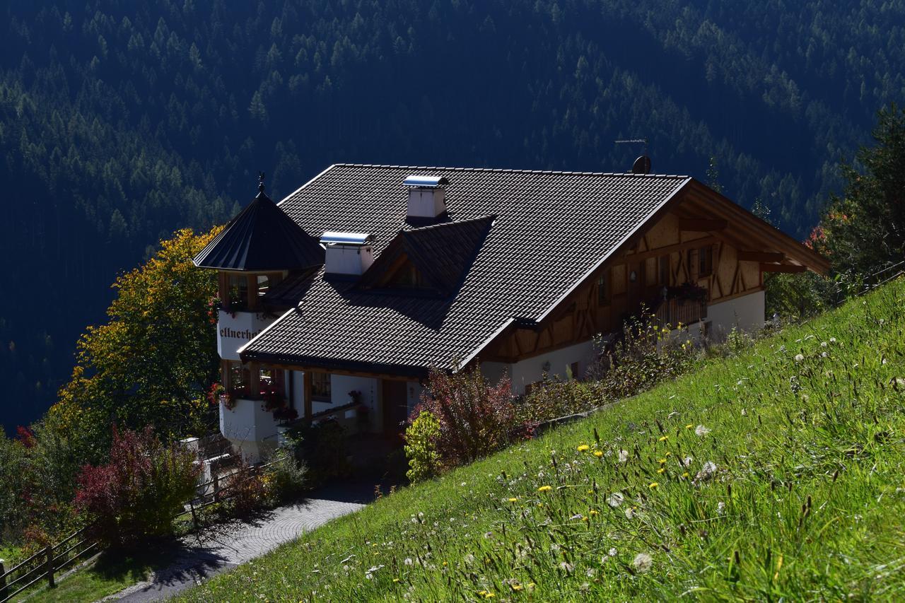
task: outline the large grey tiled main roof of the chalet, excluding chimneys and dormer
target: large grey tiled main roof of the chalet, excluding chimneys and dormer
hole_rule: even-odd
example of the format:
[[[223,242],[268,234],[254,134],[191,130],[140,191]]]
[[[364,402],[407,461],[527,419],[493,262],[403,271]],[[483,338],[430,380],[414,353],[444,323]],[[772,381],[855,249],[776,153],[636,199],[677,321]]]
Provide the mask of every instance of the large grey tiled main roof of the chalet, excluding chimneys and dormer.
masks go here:
[[[406,222],[405,177],[442,176],[452,224],[495,216],[461,285],[443,299],[359,289],[315,275],[298,305],[244,359],[417,373],[452,367],[518,317],[536,320],[643,225],[688,177],[480,168],[337,165],[281,202],[310,233],[375,235],[386,250]],[[434,229],[442,231],[443,226]],[[425,229],[425,232],[429,229]],[[452,231],[447,231],[452,232]],[[422,244],[438,273],[455,255]],[[458,261],[452,262],[453,264]],[[375,263],[376,265],[376,263]]]

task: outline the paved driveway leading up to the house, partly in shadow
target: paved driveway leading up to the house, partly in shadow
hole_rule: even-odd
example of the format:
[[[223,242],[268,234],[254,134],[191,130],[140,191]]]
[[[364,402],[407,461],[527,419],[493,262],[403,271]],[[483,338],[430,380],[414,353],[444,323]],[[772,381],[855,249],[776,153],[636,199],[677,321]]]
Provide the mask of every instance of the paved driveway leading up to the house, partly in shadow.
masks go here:
[[[374,485],[334,483],[310,494],[309,498],[278,507],[251,522],[233,522],[200,538],[187,536],[174,551],[173,564],[158,570],[145,582],[120,591],[104,600],[137,603],[158,601],[200,584],[223,571],[260,557],[283,542],[336,519],[356,512],[374,500]]]

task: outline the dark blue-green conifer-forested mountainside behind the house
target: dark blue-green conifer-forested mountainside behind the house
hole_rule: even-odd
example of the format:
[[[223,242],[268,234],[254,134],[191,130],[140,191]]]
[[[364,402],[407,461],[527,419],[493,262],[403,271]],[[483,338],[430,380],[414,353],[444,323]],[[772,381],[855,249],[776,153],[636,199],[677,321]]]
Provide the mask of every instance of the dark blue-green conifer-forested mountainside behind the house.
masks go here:
[[[805,235],[905,97],[905,8],[826,0],[13,0],[0,8],[0,423],[33,420],[117,271],[336,161],[654,171]]]

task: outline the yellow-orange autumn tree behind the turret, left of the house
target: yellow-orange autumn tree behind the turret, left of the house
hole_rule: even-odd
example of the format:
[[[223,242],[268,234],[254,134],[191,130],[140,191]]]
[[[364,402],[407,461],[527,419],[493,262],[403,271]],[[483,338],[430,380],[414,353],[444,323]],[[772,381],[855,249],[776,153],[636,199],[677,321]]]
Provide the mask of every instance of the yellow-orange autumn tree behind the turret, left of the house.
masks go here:
[[[96,430],[100,454],[113,423],[151,425],[165,440],[201,428],[218,366],[209,307],[216,278],[192,258],[217,232],[186,229],[162,241],[147,263],[113,283],[110,320],[81,336],[71,380],[51,412]]]

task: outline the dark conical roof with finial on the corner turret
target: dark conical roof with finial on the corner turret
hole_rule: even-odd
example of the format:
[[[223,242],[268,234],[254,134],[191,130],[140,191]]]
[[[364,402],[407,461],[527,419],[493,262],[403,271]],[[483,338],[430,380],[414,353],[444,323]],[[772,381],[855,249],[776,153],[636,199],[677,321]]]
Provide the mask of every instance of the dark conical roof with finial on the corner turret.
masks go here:
[[[201,268],[271,272],[299,270],[324,263],[318,240],[306,233],[264,193],[226,225],[194,259]]]

